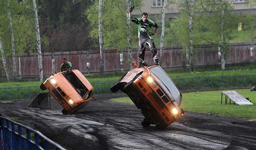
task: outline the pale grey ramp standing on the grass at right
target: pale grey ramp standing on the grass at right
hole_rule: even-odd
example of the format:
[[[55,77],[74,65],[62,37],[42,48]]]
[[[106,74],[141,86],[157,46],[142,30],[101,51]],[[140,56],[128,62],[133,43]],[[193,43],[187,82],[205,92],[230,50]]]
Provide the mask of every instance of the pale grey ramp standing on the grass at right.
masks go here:
[[[250,102],[248,99],[245,99],[244,96],[240,95],[236,91],[223,91],[221,92],[221,104],[222,104],[222,97],[223,94],[225,95],[225,104],[227,104],[228,98],[229,98],[229,104],[231,104],[231,101],[234,102],[234,104],[237,105],[253,105],[252,102]]]

